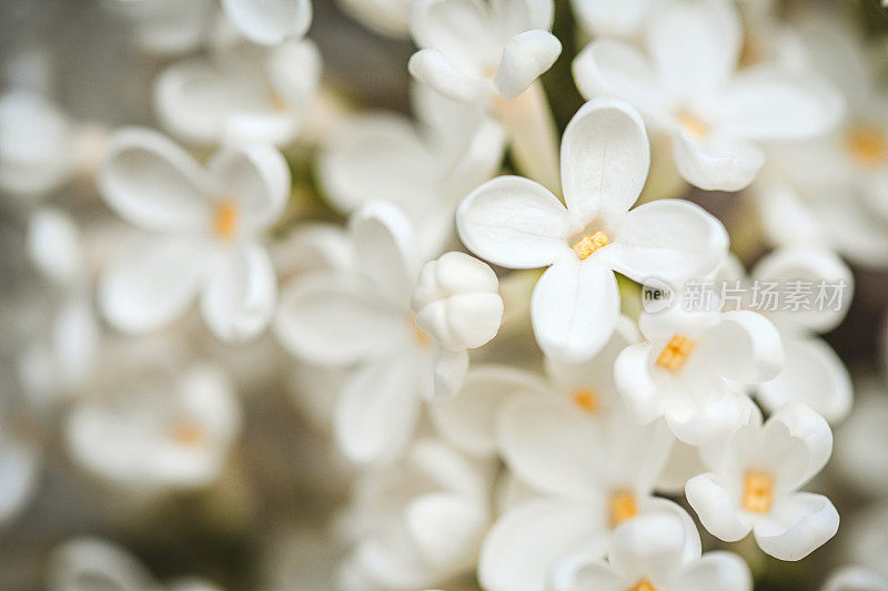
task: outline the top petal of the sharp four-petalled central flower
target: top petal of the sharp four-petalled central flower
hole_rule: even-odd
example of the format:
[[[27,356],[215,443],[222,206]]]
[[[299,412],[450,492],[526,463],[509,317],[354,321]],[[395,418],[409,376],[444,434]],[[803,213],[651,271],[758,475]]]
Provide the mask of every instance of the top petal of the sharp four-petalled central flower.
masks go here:
[[[564,197],[581,227],[596,218],[618,220],[642,193],[649,167],[645,125],[624,101],[589,101],[564,132]]]

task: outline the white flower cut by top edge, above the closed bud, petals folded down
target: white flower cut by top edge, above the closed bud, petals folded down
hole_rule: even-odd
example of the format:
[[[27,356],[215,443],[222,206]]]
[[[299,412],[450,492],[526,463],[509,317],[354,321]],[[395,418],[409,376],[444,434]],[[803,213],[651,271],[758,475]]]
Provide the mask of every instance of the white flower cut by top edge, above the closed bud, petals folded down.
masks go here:
[[[414,0],[414,78],[456,101],[514,99],[562,51],[552,0]]]

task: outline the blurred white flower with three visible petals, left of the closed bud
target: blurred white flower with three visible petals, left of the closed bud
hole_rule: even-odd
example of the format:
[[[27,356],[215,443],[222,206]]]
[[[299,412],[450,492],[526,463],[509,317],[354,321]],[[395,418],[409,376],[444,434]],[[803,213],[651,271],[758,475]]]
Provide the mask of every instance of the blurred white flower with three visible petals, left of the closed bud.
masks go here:
[[[413,435],[421,397],[434,393],[435,344],[410,308],[420,253],[410,221],[376,203],[351,220],[354,266],[289,284],[274,332],[297,358],[357,367],[336,400],[334,437],[353,461],[391,461]]]

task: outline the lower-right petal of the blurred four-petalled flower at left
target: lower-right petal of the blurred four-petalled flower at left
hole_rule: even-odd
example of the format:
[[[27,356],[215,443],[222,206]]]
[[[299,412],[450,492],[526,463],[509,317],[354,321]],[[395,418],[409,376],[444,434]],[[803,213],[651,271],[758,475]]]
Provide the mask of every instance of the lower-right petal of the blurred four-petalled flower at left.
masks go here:
[[[218,256],[201,295],[201,313],[215,336],[240,343],[265,329],[276,302],[278,277],[269,253],[248,242]]]

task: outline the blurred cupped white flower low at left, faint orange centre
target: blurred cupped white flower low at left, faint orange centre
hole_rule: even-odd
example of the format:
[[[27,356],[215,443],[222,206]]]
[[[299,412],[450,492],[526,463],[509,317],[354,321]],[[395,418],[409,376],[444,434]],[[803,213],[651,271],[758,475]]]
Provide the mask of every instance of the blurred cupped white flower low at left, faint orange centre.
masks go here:
[[[170,383],[143,377],[78,400],[64,434],[71,456],[84,469],[150,496],[213,482],[240,426],[228,376],[195,365]]]

